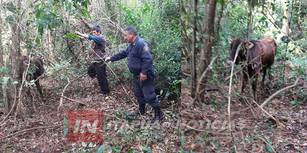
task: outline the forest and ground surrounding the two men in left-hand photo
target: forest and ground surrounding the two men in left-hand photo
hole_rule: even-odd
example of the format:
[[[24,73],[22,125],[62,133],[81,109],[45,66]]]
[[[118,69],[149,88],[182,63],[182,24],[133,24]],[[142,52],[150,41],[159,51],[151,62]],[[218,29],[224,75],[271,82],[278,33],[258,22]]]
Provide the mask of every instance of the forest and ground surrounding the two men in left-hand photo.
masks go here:
[[[178,139],[168,143],[168,136],[179,134],[180,123],[180,1],[1,0],[0,4],[0,141],[3,144],[0,152],[179,150]],[[75,31],[91,34],[94,25],[101,27],[107,39],[107,56],[128,46],[124,40],[128,26],[135,26],[139,36],[149,42],[157,73],[156,93],[166,115],[167,124],[162,130],[157,126],[131,129],[126,124],[115,127],[111,123],[135,119],[129,115],[138,108],[133,74],[126,60],[109,63],[107,78],[112,91],[109,95],[100,94],[97,80],[86,74],[92,61],[92,42],[74,34]],[[40,78],[44,97],[35,86],[30,86],[34,80],[19,79],[20,53],[44,60],[48,74]],[[26,90],[32,90],[34,95],[29,96]],[[63,131],[68,110],[104,110],[103,145],[68,143]],[[9,112],[13,116],[7,116]],[[150,120],[149,115],[145,119]],[[23,130],[28,132],[15,133]]]

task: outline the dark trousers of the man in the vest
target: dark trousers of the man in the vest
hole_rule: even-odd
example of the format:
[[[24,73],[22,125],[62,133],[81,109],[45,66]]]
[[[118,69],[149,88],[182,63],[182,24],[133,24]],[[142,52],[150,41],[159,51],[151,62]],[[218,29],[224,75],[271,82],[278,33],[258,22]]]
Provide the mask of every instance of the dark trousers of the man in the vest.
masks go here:
[[[101,61],[100,63],[93,62],[90,65],[89,70],[87,70],[87,73],[89,73],[91,78],[95,77],[97,74],[98,83],[103,94],[110,92],[106,79],[105,68],[106,64]]]

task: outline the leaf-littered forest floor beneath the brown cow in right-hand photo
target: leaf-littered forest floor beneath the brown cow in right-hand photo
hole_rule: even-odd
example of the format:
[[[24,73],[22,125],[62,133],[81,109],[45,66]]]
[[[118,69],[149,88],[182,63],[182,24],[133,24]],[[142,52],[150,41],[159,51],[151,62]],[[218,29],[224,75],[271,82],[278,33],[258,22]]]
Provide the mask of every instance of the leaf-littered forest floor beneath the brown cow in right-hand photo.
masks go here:
[[[278,77],[282,76],[282,71],[276,71],[276,66],[274,69],[272,94],[283,88],[282,81],[280,81],[282,77]],[[182,70],[186,73],[189,72],[185,64],[183,64]],[[229,72],[230,68],[223,70]],[[296,80],[291,71],[293,71],[291,68],[286,68],[286,87],[292,85]],[[276,95],[265,107],[265,110],[279,121],[277,124],[255,104],[247,103],[253,98],[248,91],[243,95],[246,100],[236,98],[238,95],[235,92],[240,92],[241,83],[239,74],[234,77],[239,82],[232,86],[231,93],[232,133],[228,127],[229,82],[213,84],[218,86],[218,90],[206,92],[205,102],[200,104],[190,97],[189,78],[183,77],[181,99],[183,151],[307,152],[307,80],[300,79],[296,87]],[[223,81],[225,78],[217,80]],[[262,76],[259,78],[262,79]],[[266,78],[266,83],[268,83],[268,78]],[[258,85],[257,89],[259,92],[258,104],[260,105],[271,94],[268,92],[267,86],[262,88]]]

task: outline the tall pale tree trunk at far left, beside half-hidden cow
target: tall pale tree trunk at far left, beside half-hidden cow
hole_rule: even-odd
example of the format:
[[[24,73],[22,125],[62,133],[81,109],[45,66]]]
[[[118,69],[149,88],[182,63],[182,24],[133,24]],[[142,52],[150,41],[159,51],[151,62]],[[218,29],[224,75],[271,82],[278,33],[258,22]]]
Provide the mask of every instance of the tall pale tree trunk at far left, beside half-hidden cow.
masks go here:
[[[15,2],[16,7],[15,10],[20,10],[20,0],[17,0]],[[11,27],[11,40],[12,44],[9,48],[9,54],[10,54],[10,83],[7,87],[7,97],[5,97],[5,113],[8,114],[11,109],[10,115],[15,114],[16,106],[17,106],[17,100],[18,100],[18,88],[19,84],[13,84],[15,81],[19,81],[19,63],[20,63],[20,27],[18,25],[19,23],[19,15],[15,14],[14,18],[16,19],[14,22],[14,25]]]

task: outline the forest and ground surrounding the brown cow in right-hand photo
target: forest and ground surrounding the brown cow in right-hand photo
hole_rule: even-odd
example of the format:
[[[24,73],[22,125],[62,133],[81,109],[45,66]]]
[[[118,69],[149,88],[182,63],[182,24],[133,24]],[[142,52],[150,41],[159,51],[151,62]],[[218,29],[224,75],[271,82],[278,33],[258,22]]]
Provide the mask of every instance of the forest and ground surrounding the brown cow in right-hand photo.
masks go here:
[[[183,151],[306,151],[306,10],[306,1],[183,1]],[[273,86],[268,75],[261,86],[261,71],[256,104],[255,79],[242,93],[243,66],[227,64],[227,39],[266,36],[277,43]]]

